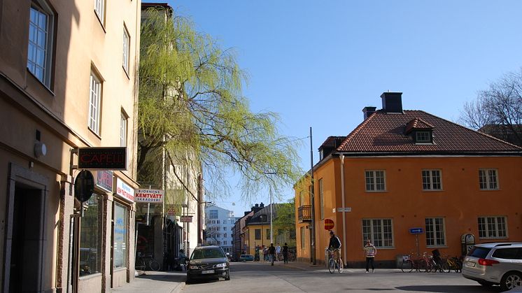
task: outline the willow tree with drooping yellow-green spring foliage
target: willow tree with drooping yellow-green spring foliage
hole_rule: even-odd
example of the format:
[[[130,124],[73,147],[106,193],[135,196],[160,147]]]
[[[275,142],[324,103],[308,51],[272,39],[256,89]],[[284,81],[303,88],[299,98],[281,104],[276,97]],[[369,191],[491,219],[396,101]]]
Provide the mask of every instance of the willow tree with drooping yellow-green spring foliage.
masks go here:
[[[147,156],[165,150],[173,166],[200,163],[211,194],[230,192],[232,174],[239,175],[245,200],[268,185],[294,183],[301,173],[296,140],[279,134],[276,113],[250,109],[242,94],[247,75],[234,50],[220,48],[185,17],[147,15],[141,26],[139,172],[148,173]]]

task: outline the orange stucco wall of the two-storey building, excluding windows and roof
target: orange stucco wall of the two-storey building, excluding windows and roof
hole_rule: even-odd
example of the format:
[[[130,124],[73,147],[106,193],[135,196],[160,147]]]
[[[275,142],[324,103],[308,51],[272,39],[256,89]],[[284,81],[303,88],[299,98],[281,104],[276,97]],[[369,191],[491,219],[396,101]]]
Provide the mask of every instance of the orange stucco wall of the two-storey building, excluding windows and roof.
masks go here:
[[[423,191],[422,170],[442,171],[442,191]],[[479,169],[498,170],[498,190],[479,189]],[[365,171],[386,171],[386,191],[366,192]],[[460,255],[460,236],[473,234],[477,243],[522,240],[522,157],[345,157],[344,187],[346,227],[342,227],[342,213],[332,209],[341,207],[341,163],[329,159],[316,166],[316,258],[324,260],[328,234],[320,219],[318,181],[323,180],[325,218],[334,220],[334,231],[343,239],[346,231],[346,260],[348,264],[363,262],[362,219],[392,219],[393,247],[379,248],[376,262],[395,261],[397,255],[416,251],[415,236],[409,228],[425,229],[426,217],[443,217],[446,245],[428,247],[425,234],[418,236],[419,250],[431,252],[438,248],[442,254]],[[299,192],[296,190],[296,198]],[[308,197],[308,196],[306,196]],[[296,199],[296,205],[299,205]],[[297,208],[297,207],[296,207]],[[479,216],[507,217],[507,238],[479,238]],[[301,247],[300,227],[297,224],[298,257],[309,259],[309,249]],[[309,240],[307,236],[306,241]],[[309,244],[305,245],[306,248]]]

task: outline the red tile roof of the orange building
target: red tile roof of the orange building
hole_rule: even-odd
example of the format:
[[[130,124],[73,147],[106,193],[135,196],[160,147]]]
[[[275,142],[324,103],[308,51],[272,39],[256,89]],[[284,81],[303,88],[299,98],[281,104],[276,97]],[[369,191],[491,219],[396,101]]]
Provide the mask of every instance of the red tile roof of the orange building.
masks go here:
[[[411,124],[411,125],[409,125]],[[432,129],[433,143],[415,143],[407,127]],[[483,153],[518,152],[522,148],[421,110],[379,110],[353,129],[337,152]]]

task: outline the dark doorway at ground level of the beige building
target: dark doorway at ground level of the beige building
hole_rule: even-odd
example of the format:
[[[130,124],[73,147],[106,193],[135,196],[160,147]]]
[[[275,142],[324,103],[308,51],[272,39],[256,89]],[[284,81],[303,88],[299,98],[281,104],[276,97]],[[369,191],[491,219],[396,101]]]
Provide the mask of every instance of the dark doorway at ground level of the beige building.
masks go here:
[[[43,259],[42,190],[15,186],[9,292],[40,292]]]

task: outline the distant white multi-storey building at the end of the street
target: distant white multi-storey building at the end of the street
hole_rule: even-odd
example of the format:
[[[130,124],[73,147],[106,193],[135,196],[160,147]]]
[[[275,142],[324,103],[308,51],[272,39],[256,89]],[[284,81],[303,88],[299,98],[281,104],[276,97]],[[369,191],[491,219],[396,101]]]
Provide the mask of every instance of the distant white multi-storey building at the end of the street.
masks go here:
[[[236,218],[232,210],[213,204],[205,206],[206,238],[209,245],[219,245],[225,252],[232,252],[232,227]]]

